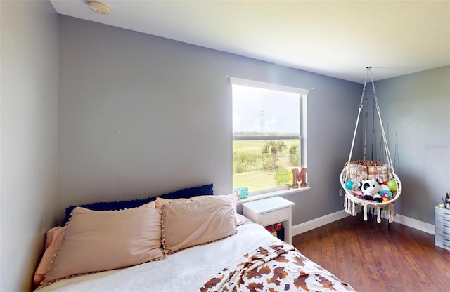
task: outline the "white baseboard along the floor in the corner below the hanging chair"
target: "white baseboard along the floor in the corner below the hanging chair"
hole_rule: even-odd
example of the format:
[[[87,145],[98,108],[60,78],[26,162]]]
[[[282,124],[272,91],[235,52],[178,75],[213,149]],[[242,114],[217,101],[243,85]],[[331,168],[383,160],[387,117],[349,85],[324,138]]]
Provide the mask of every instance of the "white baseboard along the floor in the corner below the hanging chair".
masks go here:
[[[313,230],[317,227],[321,227],[323,225],[327,225],[329,223],[332,223],[334,221],[340,220],[342,218],[345,218],[349,216],[348,213],[346,213],[344,210],[342,211],[338,211],[335,213],[330,213],[328,215],[324,215],[322,217],[307,221],[305,223],[300,223],[297,225],[294,225],[292,227],[292,235],[295,236],[297,234],[301,234],[303,232],[307,232],[309,230]],[[359,214],[359,216],[361,216],[361,214]],[[383,216],[384,217],[384,216]],[[387,219],[387,218],[385,218]],[[361,219],[362,220],[362,219]],[[412,227],[416,230],[420,230],[423,232],[427,232],[430,234],[435,234],[435,225],[432,225],[430,223],[425,223],[423,221],[420,220],[416,220],[413,218],[409,218],[406,217],[404,215],[400,215],[400,214],[395,214],[395,219],[394,222],[402,224],[402,225],[406,225],[408,227]]]

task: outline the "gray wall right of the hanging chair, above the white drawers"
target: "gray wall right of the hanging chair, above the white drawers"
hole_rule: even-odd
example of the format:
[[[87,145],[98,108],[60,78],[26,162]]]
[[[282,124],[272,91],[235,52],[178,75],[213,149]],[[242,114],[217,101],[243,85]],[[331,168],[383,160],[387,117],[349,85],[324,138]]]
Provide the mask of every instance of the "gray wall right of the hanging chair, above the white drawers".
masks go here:
[[[378,81],[375,88],[404,188],[395,209],[435,224],[434,207],[450,192],[450,66]]]

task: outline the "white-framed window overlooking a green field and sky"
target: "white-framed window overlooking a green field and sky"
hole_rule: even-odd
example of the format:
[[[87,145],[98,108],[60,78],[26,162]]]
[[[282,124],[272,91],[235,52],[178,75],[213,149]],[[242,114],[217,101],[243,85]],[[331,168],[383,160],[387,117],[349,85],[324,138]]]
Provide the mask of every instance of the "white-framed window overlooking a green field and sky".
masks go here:
[[[301,88],[230,78],[233,95],[233,189],[251,194],[292,183],[307,165],[306,97]]]

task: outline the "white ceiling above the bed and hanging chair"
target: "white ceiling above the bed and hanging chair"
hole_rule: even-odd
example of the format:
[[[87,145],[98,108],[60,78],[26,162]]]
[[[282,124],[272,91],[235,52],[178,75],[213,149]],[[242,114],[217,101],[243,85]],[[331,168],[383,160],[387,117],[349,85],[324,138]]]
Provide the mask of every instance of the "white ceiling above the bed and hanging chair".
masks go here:
[[[50,0],[63,15],[349,81],[450,65],[450,0]]]

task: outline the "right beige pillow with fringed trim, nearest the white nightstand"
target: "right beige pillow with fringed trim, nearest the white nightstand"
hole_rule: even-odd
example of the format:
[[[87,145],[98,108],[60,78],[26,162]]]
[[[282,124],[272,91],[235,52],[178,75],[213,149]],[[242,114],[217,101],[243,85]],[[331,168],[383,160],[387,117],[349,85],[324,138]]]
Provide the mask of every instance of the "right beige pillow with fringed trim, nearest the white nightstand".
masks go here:
[[[162,205],[165,253],[206,244],[236,233],[233,196],[202,196]]]

